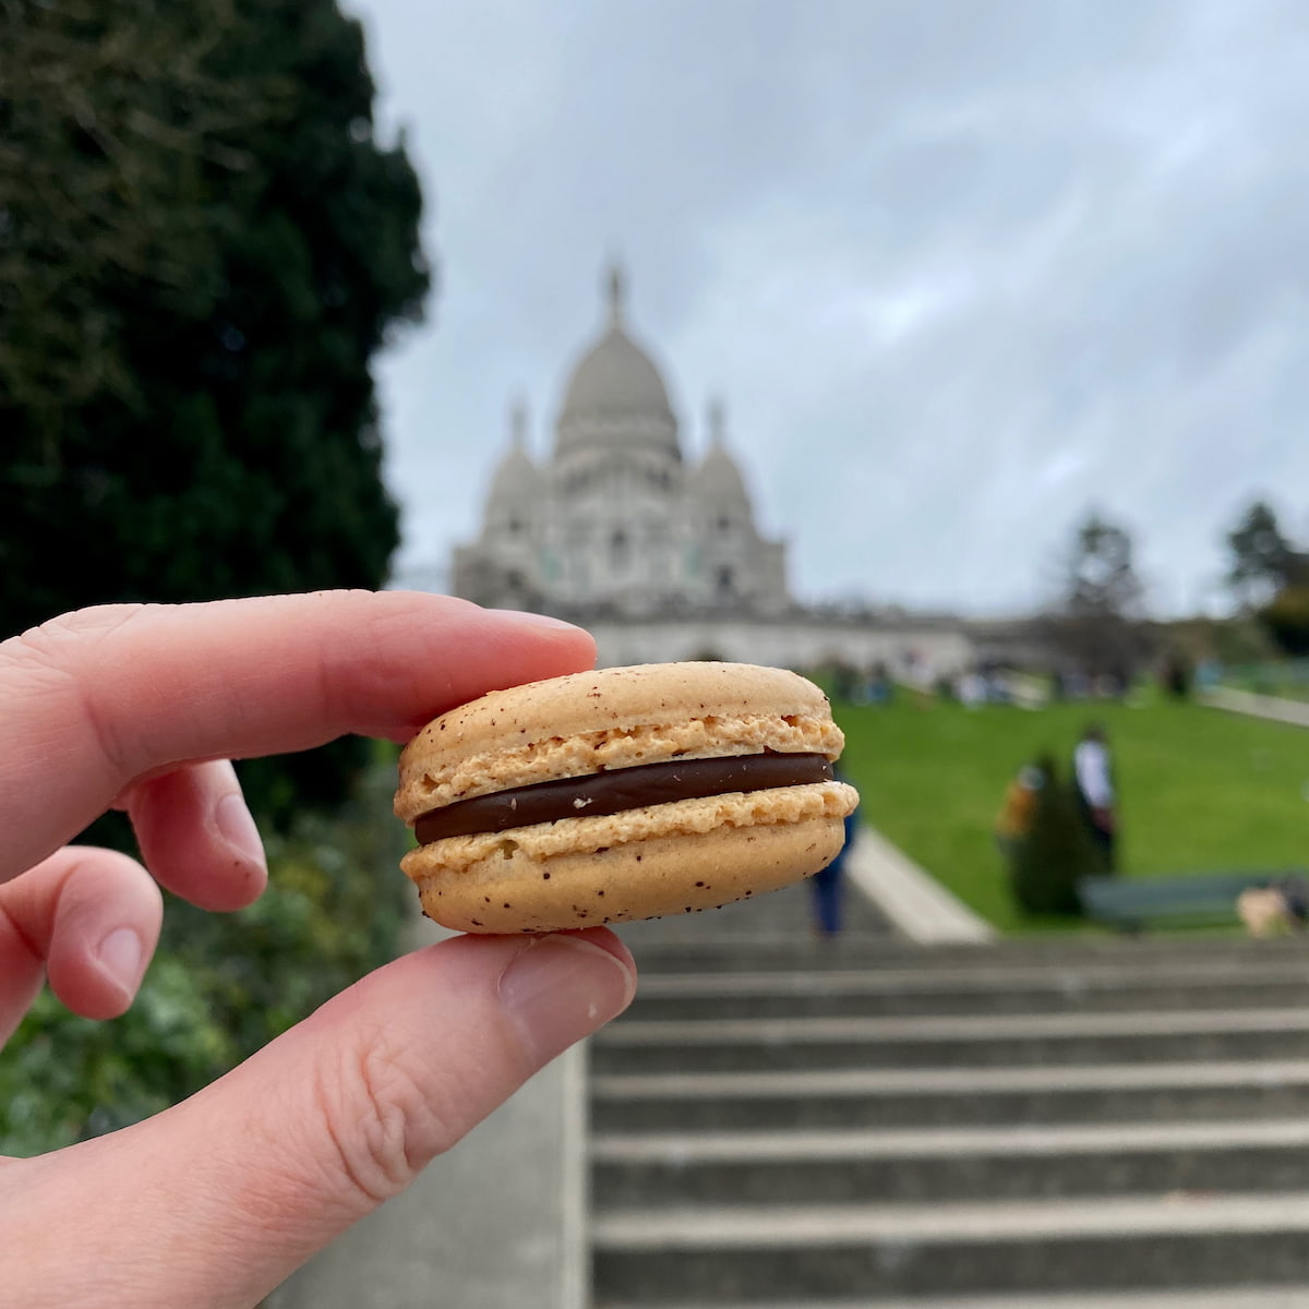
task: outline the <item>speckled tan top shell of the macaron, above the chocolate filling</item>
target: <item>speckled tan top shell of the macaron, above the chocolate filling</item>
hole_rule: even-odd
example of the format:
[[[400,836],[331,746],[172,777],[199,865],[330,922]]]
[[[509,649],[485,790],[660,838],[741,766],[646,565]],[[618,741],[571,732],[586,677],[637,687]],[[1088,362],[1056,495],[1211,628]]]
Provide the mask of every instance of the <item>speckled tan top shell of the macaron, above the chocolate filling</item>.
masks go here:
[[[433,719],[401,755],[395,813],[668,759],[780,753],[835,759],[826,696],[785,669],[641,664],[492,691]]]

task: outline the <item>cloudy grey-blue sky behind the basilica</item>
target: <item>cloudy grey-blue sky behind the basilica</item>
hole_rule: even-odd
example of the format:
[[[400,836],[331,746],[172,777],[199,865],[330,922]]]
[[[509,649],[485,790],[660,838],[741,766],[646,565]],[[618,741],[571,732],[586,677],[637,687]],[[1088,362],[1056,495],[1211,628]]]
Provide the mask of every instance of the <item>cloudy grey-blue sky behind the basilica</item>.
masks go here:
[[[1257,495],[1309,537],[1301,0],[351,0],[440,267],[381,368],[404,569],[548,448],[628,274],[802,597],[1005,613],[1090,508],[1212,603]]]

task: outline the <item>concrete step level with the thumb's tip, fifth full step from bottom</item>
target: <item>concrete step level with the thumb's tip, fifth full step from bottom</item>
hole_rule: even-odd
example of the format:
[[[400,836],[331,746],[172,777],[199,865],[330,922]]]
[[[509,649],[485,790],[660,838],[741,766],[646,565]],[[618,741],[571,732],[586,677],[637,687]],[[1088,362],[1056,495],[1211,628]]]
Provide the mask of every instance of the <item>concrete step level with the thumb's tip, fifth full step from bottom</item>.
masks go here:
[[[630,1018],[1223,1009],[1309,1001],[1309,959],[1011,963],[958,969],[804,969],[645,977]]]

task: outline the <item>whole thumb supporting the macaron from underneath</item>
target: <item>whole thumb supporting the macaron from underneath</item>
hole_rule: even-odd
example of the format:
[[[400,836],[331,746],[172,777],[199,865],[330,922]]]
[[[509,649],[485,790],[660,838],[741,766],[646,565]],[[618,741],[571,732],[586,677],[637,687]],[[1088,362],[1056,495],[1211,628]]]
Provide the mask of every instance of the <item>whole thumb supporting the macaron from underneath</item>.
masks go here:
[[[0,1169],[7,1302],[247,1309],[634,988],[603,928],[387,965],[174,1109]]]

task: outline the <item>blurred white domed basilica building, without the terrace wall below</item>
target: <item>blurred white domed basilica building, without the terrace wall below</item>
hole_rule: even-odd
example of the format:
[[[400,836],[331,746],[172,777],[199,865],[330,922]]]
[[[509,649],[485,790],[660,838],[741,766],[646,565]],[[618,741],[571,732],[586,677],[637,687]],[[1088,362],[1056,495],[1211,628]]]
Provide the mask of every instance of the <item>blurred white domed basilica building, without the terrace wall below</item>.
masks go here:
[[[628,334],[617,268],[609,321],[572,370],[542,465],[526,425],[518,406],[478,541],[456,551],[457,594],[627,618],[791,606],[785,546],[755,526],[721,406],[708,453],[689,462],[664,380]]]

